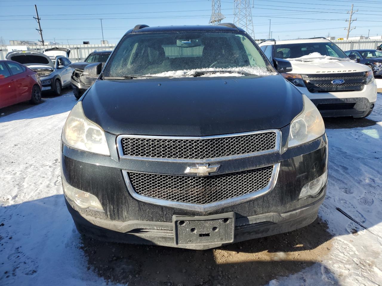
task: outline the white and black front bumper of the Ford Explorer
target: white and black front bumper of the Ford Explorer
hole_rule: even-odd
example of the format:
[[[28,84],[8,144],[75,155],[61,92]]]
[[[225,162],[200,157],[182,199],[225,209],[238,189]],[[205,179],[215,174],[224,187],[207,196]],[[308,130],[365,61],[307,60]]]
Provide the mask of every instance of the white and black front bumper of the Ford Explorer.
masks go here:
[[[364,117],[377,100],[377,85],[374,80],[356,92],[311,93],[306,87],[298,87],[317,106],[323,117]]]

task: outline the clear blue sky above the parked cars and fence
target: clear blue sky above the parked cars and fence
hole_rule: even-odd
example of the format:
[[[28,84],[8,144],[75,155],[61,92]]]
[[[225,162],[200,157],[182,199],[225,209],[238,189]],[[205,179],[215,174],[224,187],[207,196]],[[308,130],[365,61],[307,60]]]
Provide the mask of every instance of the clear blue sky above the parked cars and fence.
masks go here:
[[[222,0],[223,22],[233,22],[233,0]],[[272,37],[343,37],[354,4],[356,29],[351,36],[382,34],[382,0],[250,0],[255,37],[268,38],[269,19]],[[9,40],[39,40],[34,4],[41,18],[44,40],[62,43],[116,43],[136,24],[149,26],[208,24],[210,0],[0,0],[0,37]],[[252,8],[252,5],[254,7]]]

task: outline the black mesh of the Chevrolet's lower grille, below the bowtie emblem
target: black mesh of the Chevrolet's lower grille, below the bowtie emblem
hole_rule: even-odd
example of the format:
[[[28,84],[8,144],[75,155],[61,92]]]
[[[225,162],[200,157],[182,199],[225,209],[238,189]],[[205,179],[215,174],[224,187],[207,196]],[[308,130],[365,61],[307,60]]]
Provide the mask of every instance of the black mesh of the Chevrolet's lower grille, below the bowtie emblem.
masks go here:
[[[209,177],[127,172],[134,191],[149,198],[189,204],[209,204],[264,189],[274,166]]]

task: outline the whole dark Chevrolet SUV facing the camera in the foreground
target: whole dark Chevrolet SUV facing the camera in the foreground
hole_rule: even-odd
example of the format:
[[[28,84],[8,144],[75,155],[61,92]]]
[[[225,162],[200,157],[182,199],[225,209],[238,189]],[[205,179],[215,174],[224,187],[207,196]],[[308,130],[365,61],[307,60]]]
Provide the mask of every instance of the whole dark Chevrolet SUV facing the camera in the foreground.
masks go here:
[[[316,106],[241,28],[138,25],[66,119],[61,170],[80,233],[208,249],[295,230],[324,201]]]

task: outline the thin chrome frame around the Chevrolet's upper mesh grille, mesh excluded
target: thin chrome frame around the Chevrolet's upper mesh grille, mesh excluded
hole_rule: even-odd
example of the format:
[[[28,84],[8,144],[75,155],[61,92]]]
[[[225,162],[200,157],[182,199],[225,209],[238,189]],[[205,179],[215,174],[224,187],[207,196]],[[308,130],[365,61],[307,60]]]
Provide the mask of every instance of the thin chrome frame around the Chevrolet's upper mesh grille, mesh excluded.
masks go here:
[[[245,136],[245,135],[253,135],[259,133],[267,133],[267,132],[275,132],[276,133],[276,142],[275,148],[269,149],[261,152],[254,152],[248,154],[240,154],[226,157],[217,157],[217,158],[209,158],[209,159],[173,159],[173,158],[158,158],[158,157],[140,157],[140,156],[129,156],[123,155],[123,147],[121,144],[122,138],[146,138],[146,139],[168,139],[168,140],[206,140],[206,139],[215,139],[215,138],[225,138],[225,137],[236,137],[236,136]],[[280,152],[280,142],[281,142],[281,131],[278,129],[268,129],[261,131],[251,131],[251,132],[241,132],[241,133],[231,133],[224,135],[212,135],[212,136],[202,136],[202,137],[191,137],[191,136],[153,136],[153,135],[118,135],[117,137],[117,149],[118,155],[120,158],[126,159],[135,159],[135,160],[146,160],[146,161],[170,161],[170,162],[197,162],[197,163],[207,163],[214,161],[225,161],[230,159],[244,158],[244,157],[252,157],[257,155],[262,155],[266,153]]]

